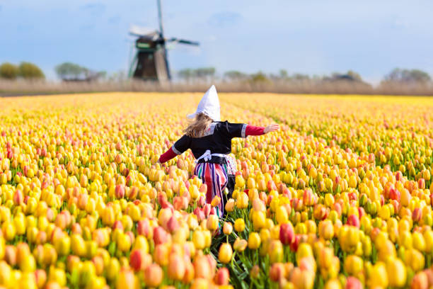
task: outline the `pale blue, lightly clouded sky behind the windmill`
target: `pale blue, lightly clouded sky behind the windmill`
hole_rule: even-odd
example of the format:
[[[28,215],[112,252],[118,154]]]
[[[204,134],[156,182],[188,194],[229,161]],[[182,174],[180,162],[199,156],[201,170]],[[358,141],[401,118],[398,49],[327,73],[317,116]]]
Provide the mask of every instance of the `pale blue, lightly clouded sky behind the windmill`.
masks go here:
[[[162,0],[172,72],[215,67],[253,73],[352,69],[372,83],[395,67],[433,77],[433,1]],[[158,28],[156,0],[0,0],[0,62],[30,61],[49,79],[75,62],[127,71],[131,25]]]

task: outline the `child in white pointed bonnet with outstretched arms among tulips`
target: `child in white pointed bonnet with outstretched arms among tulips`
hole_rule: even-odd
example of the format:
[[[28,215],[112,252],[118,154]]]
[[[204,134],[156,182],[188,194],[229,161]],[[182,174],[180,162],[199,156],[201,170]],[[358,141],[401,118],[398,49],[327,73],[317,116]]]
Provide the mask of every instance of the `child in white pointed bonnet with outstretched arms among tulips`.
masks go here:
[[[162,164],[191,149],[196,159],[194,174],[207,185],[206,201],[211,203],[214,196],[219,196],[221,202],[215,209],[217,215],[223,217],[226,200],[231,198],[235,185],[236,162],[228,155],[231,153],[231,139],[274,132],[279,125],[260,128],[244,123],[221,122],[215,86],[204,94],[197,111],[187,115],[187,118],[194,120],[184,130],[185,135],[162,154],[158,162]],[[229,190],[228,198],[224,196],[224,188]]]

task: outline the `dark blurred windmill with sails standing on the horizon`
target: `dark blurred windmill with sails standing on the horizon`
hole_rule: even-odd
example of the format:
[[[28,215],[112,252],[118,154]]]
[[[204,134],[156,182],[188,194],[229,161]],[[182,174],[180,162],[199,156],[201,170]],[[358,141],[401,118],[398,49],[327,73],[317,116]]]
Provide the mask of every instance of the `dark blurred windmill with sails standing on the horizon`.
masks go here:
[[[179,38],[165,38],[161,0],[156,1],[159,30],[139,26],[131,26],[129,29],[129,34],[137,37],[134,58],[129,67],[129,77],[151,81],[168,81],[171,79],[171,74],[168,66],[167,45],[178,43],[199,45],[199,43]]]

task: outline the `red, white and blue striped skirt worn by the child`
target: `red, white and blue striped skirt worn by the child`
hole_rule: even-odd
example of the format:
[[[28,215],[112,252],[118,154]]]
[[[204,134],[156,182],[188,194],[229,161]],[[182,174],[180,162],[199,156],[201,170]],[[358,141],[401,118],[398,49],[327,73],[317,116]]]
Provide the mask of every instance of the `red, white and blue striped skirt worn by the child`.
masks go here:
[[[224,188],[227,185],[227,165],[214,163],[200,163],[195,166],[195,176],[202,179],[207,185],[206,202],[211,203],[215,196],[221,198],[218,207],[215,208],[218,217],[222,217],[224,212],[225,198],[223,198]]]

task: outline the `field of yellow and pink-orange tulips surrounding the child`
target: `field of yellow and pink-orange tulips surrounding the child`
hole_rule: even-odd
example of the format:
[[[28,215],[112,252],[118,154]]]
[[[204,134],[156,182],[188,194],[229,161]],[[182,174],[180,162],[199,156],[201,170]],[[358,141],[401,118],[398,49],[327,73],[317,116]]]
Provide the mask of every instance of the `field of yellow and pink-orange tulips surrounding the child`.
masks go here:
[[[190,151],[202,94],[0,98],[0,288],[433,288],[433,99],[221,94],[228,215]]]

